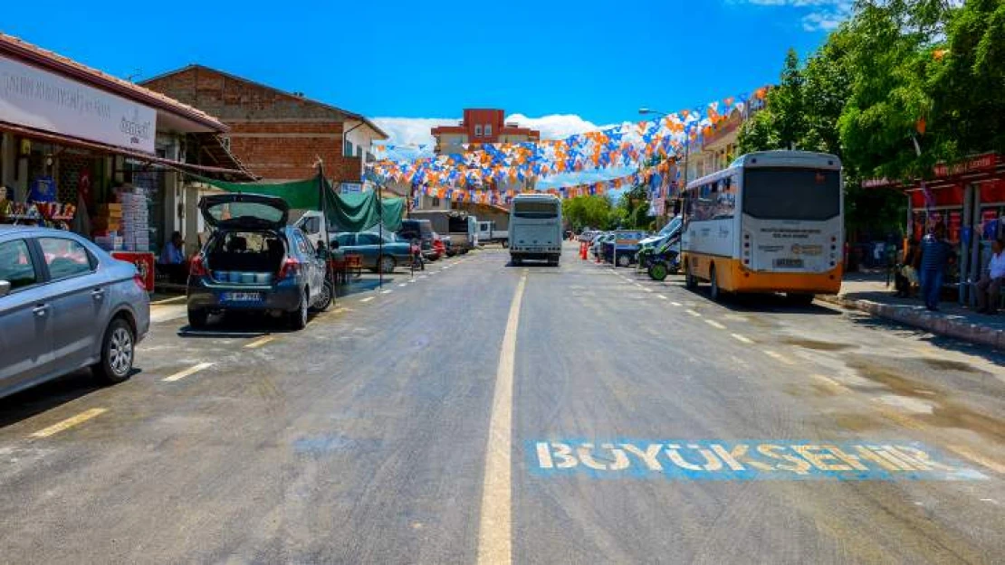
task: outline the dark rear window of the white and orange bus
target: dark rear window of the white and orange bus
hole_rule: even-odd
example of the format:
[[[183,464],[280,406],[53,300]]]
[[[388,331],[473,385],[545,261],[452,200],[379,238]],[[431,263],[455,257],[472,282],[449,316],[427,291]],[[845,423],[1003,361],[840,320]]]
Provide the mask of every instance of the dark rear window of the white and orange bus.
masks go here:
[[[829,220],[841,212],[837,171],[765,167],[744,176],[744,213],[762,220]]]

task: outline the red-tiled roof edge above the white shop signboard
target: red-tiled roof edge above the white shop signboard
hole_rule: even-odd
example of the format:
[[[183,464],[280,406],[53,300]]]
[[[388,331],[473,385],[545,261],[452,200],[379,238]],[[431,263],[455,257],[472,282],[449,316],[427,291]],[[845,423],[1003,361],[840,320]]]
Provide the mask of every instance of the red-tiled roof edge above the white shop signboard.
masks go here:
[[[29,62],[131,100],[186,117],[215,131],[230,130],[222,121],[198,108],[2,32],[0,32],[0,55],[8,55]]]

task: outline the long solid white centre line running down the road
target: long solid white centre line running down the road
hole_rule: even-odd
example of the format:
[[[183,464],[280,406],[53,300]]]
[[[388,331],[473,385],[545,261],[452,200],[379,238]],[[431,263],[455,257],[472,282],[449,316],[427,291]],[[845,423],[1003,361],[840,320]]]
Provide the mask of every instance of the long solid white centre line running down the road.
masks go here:
[[[517,291],[510,305],[499,364],[495,371],[484,482],[481,488],[481,516],[478,522],[478,563],[485,565],[513,563],[513,463],[510,460],[513,451],[513,367],[517,352],[517,329],[520,326],[520,306],[526,286],[525,272],[517,284]]]

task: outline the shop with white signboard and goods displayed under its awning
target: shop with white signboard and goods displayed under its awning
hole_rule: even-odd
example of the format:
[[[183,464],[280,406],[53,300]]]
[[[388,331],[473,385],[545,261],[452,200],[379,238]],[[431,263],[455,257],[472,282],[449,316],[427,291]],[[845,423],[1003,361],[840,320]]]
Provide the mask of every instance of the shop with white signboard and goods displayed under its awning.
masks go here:
[[[195,214],[186,173],[252,180],[222,147],[226,131],[163,94],[0,34],[0,223],[72,230],[150,265]]]

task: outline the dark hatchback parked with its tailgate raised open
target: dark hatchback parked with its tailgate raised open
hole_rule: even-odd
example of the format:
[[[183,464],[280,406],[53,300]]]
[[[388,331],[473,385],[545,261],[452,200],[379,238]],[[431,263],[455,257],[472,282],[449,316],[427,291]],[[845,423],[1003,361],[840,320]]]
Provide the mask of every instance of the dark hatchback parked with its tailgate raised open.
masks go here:
[[[332,303],[324,257],[304,232],[286,225],[284,200],[211,195],[199,201],[199,210],[213,234],[189,268],[191,327],[204,327],[210,313],[259,311],[285,316],[291,327],[301,329],[309,310]]]

